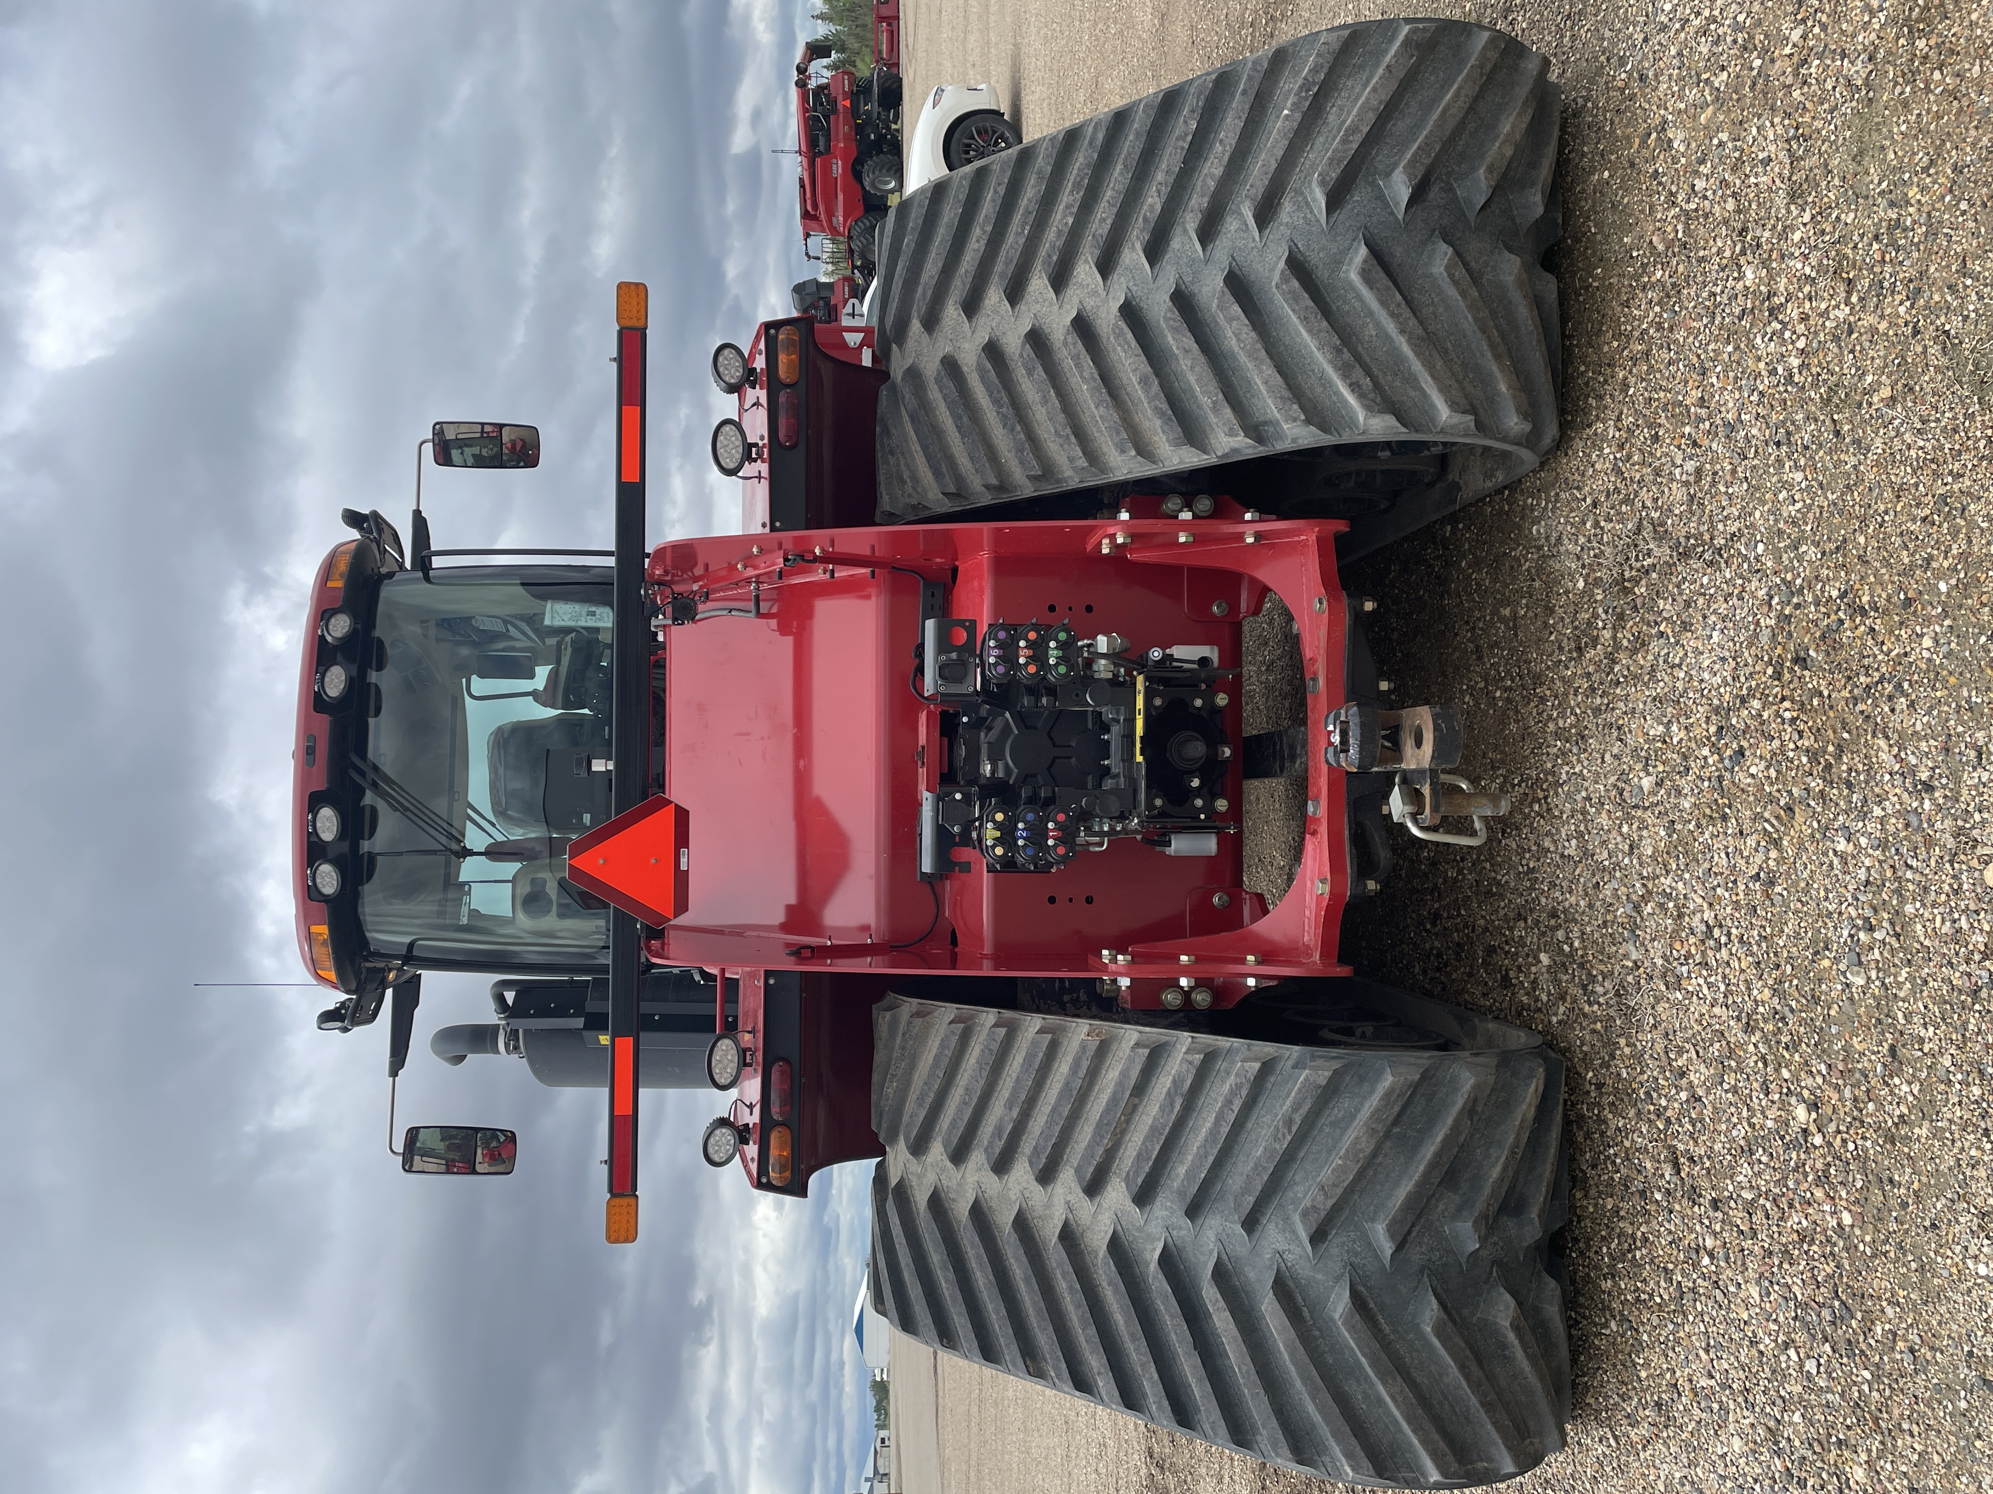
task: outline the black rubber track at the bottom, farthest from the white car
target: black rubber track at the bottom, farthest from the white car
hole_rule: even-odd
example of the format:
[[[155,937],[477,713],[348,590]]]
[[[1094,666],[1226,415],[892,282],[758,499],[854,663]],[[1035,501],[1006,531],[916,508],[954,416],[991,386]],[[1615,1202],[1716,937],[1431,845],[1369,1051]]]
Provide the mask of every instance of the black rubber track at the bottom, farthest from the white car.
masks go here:
[[[1485,1484],[1563,1446],[1563,1062],[889,998],[873,1301],[1252,1458]]]

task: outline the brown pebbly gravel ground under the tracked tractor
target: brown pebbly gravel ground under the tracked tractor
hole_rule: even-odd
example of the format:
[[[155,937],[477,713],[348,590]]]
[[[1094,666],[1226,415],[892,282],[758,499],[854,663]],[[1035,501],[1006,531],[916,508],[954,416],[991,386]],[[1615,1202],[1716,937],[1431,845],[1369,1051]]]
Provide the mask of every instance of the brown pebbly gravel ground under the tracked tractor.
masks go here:
[[[1351,946],[1570,1060],[1576,1410],[1521,1486],[1993,1488],[1993,28],[1433,12],[1565,88],[1566,430],[1349,582],[1517,795]],[[1030,135],[1387,12],[905,14],[909,100],[989,80]],[[959,1361],[941,1394],[951,1490],[1313,1482]]]

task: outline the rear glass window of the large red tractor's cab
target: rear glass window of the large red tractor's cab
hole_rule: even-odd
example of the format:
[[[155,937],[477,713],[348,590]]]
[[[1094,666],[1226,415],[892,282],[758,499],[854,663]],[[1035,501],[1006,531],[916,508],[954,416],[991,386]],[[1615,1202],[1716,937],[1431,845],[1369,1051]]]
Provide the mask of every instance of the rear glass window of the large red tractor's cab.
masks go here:
[[[568,841],[610,809],[610,572],[403,572],[381,586],[381,713],[347,765],[369,948],[411,964],[608,960]]]

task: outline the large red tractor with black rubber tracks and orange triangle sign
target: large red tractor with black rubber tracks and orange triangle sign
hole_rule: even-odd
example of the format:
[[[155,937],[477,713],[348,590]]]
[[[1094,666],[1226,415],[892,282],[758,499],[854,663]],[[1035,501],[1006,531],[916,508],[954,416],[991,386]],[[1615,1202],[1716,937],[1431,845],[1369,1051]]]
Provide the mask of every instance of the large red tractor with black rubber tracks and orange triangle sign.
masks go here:
[[[494,974],[496,1020],[430,1048],[606,1090],[612,1243],[642,1090],[710,1084],[700,1149],[757,1189],[877,1159],[873,1299],[925,1343],[1351,1482],[1555,1452],[1563,1064],[1339,938],[1395,835],[1507,809],[1453,711],[1381,695],[1341,566],[1557,440],[1557,102],[1499,32],[1367,22],[931,183],[877,327],[713,355],[741,534],[644,534],[620,287],[614,552],[349,510],[321,568],[321,1026],[391,1002],[393,1076],[423,972]],[[524,426],[432,442],[538,462]],[[1272,598],[1303,707],[1248,735]],[[1242,855],[1270,777],[1305,799],[1274,890]]]

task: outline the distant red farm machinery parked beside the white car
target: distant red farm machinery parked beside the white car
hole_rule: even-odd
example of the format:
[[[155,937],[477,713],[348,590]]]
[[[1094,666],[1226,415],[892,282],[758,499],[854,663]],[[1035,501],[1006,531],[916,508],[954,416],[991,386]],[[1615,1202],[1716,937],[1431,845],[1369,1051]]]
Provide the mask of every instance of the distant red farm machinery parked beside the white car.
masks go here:
[[[869,76],[821,70],[829,56],[829,38],[817,38],[795,64],[803,251],[823,261],[823,275],[791,295],[797,313],[819,321],[839,321],[863,297],[879,261],[879,225],[903,181],[899,0],[873,4]]]

